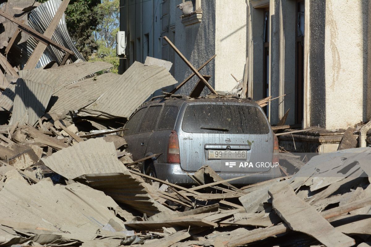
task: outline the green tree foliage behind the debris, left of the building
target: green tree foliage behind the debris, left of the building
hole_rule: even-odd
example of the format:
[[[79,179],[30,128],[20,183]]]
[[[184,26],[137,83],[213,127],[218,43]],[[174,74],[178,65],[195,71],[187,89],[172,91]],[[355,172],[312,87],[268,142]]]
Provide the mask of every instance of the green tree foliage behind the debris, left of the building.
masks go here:
[[[114,73],[118,73],[119,66],[119,4],[119,0],[70,0],[65,11],[67,29],[77,50],[86,60],[111,63]]]

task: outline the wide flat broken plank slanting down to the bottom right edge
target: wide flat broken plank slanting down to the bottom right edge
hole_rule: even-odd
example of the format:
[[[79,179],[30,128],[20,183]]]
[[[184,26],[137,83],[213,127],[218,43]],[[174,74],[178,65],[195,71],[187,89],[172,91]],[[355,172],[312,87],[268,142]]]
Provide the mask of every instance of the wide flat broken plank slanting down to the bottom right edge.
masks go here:
[[[314,207],[297,197],[288,184],[270,188],[273,208],[291,230],[316,238],[325,246],[350,247],[354,239],[336,230]]]

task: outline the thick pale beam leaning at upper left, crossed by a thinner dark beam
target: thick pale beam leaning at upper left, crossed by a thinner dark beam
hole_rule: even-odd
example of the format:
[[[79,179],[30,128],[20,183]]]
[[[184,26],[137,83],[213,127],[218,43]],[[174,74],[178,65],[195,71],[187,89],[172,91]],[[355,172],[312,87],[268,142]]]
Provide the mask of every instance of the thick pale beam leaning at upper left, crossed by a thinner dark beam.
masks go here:
[[[52,21],[50,22],[49,26],[44,32],[45,37],[51,38],[53,36],[53,33],[60,21],[60,18],[62,18],[63,13],[65,13],[65,10],[67,9],[69,1],[70,0],[63,0],[62,3],[60,3],[59,8],[55,13],[55,16],[53,17]],[[35,69],[37,62],[40,60],[40,57],[43,55],[46,47],[47,45],[42,42],[37,43],[37,46],[33,50],[30,58],[28,59],[23,69],[24,70]]]

